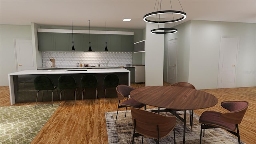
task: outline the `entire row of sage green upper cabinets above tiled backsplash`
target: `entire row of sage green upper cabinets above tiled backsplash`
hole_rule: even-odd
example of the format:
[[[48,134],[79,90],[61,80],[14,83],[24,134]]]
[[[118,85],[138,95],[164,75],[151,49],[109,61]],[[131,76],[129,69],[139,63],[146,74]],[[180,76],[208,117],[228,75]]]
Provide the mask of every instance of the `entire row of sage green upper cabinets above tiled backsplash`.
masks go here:
[[[104,51],[107,40],[110,52],[133,52],[133,35],[38,32],[39,51],[71,51],[73,40],[76,51],[87,52],[89,42],[92,51]]]

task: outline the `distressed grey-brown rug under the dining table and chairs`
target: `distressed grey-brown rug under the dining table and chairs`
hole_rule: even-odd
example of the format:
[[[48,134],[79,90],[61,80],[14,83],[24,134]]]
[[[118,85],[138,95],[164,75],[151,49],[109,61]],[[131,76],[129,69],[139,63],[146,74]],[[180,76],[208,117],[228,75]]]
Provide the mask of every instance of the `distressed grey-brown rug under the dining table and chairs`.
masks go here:
[[[184,112],[177,112],[180,116],[184,117]],[[162,113],[165,115],[165,112]],[[168,116],[172,116],[169,112]],[[118,119],[115,124],[116,112],[105,112],[106,128],[108,134],[108,144],[131,144],[132,143],[132,116],[128,111],[124,117],[125,111],[118,112]],[[199,144],[200,143],[200,124],[198,123],[199,116],[193,115],[193,129],[191,132],[189,122],[189,112],[186,118],[186,144]],[[183,122],[178,118],[175,126],[176,144],[183,143]],[[134,144],[141,144],[142,137],[136,137]],[[160,139],[160,144],[174,144],[174,135],[171,132],[166,138]],[[241,142],[245,144],[244,142]],[[143,144],[156,144],[152,138],[144,138]],[[218,129],[206,129],[205,136],[202,137],[202,144],[238,144],[238,139],[228,132]]]

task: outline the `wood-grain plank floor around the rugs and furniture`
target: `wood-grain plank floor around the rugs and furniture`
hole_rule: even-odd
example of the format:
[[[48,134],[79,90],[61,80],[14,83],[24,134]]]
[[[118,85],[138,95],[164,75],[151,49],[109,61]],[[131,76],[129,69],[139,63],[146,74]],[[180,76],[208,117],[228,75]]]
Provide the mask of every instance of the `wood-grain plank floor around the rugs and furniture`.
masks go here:
[[[164,85],[169,85],[164,83]],[[144,84],[131,84],[134,88],[140,88]],[[206,110],[226,112],[220,106],[223,101],[244,100],[250,103],[244,119],[240,126],[241,140],[247,144],[256,142],[256,87],[246,88],[223,88],[203,90],[218,98],[218,104],[211,108],[194,110],[198,115]],[[39,104],[51,102],[39,102]],[[54,103],[58,103],[57,101]],[[18,105],[34,105],[35,103],[20,103]],[[0,87],[0,106],[10,105],[10,94],[8,86]],[[116,111],[117,98],[62,101],[52,117],[44,125],[42,130],[32,141],[32,144],[108,144],[106,132],[105,112]],[[147,106],[147,108],[152,108]],[[121,110],[124,110],[121,109]]]

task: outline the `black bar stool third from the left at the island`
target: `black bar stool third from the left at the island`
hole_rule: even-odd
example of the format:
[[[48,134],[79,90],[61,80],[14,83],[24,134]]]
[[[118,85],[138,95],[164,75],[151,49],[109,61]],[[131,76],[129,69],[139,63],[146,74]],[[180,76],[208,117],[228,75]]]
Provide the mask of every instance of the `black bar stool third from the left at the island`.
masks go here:
[[[96,76],[94,76],[94,75],[84,75],[81,78],[81,88],[83,89],[83,91],[82,91],[82,104],[83,104],[83,98],[84,98],[86,88],[95,88],[96,89],[96,99],[97,99],[97,103],[98,103],[98,90],[97,90],[98,80],[97,80]]]

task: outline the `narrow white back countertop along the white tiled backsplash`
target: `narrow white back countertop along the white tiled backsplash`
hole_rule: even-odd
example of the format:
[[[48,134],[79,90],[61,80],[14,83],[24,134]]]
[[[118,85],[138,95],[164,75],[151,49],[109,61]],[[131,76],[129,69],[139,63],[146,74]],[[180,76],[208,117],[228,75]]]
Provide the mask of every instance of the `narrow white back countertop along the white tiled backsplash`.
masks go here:
[[[134,68],[135,66],[122,66],[123,68]],[[99,68],[121,68],[121,66],[95,66],[95,67],[42,67],[42,68],[37,68],[38,70],[40,69],[99,69]]]

